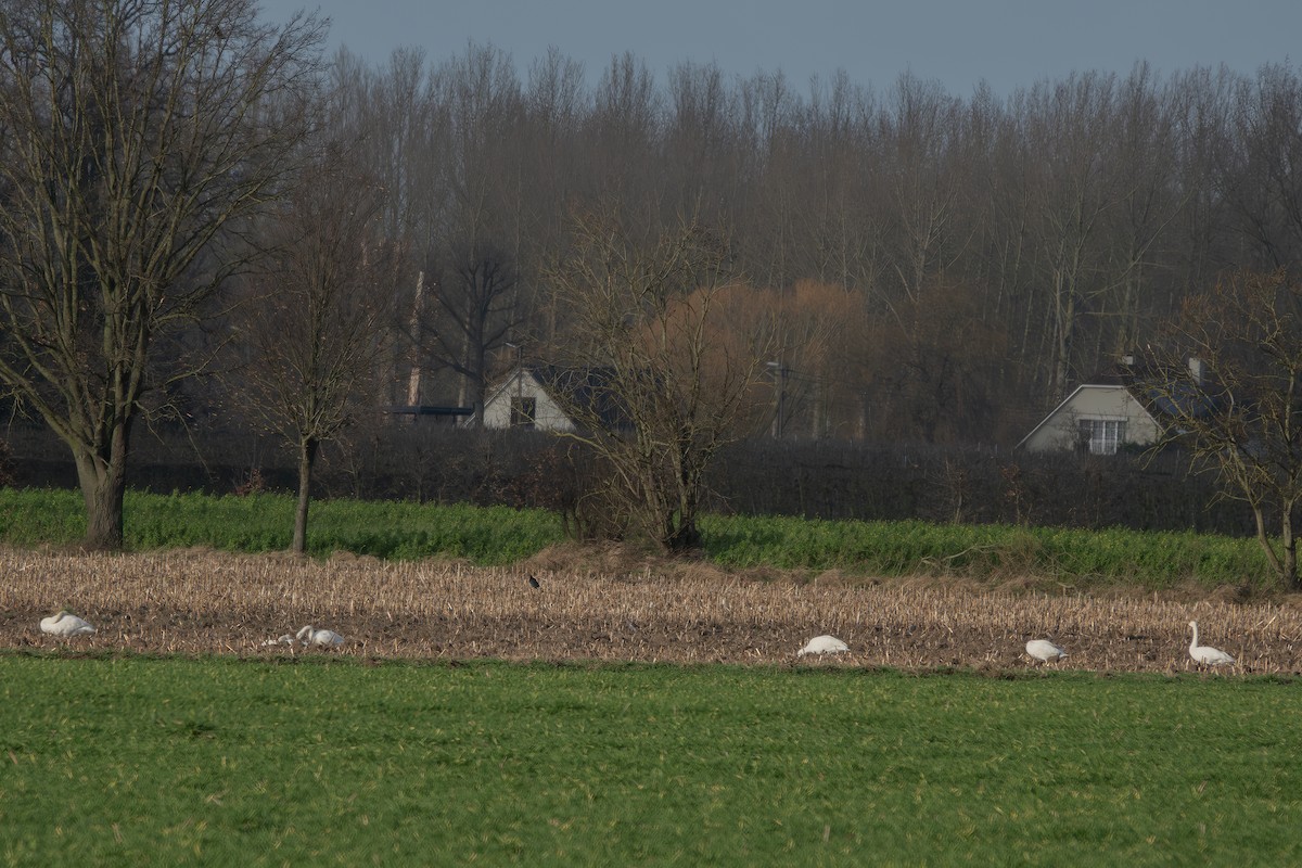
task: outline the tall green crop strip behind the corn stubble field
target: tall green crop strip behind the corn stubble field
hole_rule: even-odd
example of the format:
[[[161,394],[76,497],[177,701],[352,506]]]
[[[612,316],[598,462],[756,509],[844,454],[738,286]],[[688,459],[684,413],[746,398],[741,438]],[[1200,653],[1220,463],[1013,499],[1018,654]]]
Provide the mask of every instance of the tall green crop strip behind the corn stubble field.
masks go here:
[[[293,498],[280,495],[129,492],[126,544],[137,550],[283,550],[289,548],[293,510]],[[0,488],[0,541],[73,544],[85,530],[77,492]],[[729,567],[1026,574],[1065,579],[1081,590],[1090,583],[1168,588],[1186,580],[1208,587],[1276,584],[1255,540],[1197,534],[755,515],[708,515],[700,530],[706,554]],[[555,513],[461,504],[319,501],[309,527],[309,549],[316,556],[345,550],[402,560],[458,557],[482,566],[513,563],[562,540]]]

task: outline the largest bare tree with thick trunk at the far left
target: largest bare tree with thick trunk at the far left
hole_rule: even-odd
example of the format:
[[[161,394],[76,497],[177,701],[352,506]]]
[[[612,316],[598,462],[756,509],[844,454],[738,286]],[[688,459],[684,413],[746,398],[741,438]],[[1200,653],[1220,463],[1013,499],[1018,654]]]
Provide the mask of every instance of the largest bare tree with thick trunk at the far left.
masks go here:
[[[306,135],[323,25],[253,0],[0,5],[0,383],[72,449],[86,544],[122,543],[156,338],[242,262]]]

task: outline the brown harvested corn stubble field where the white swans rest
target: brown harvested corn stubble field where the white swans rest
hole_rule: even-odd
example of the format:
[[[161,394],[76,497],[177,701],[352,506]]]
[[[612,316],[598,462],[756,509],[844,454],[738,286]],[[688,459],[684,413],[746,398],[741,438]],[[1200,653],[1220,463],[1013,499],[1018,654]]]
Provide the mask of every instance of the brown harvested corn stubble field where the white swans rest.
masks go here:
[[[1027,639],[1069,657],[1049,668],[1195,670],[1189,622],[1234,656],[1228,673],[1302,673],[1302,606],[1186,595],[1061,596],[945,579],[875,582],[725,571],[699,562],[612,563],[544,552],[512,567],[436,561],[328,561],[174,550],[89,554],[0,549],[0,647],[272,656],[604,660],[767,665],[1034,668]],[[533,587],[529,576],[538,579]],[[1006,586],[1005,586],[1006,587]],[[43,635],[69,609],[98,631]],[[266,645],[303,625],[340,649]],[[797,658],[819,634],[835,657]]]

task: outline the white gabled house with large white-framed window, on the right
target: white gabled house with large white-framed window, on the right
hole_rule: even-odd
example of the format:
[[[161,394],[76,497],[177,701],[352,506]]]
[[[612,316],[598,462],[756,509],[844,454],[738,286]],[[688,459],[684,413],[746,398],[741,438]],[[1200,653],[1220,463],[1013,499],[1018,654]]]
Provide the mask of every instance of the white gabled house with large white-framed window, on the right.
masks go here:
[[[1189,359],[1189,371],[1199,381],[1203,363]],[[1031,452],[1081,450],[1096,455],[1116,454],[1122,445],[1147,446],[1161,437],[1157,414],[1164,398],[1146,398],[1142,385],[1148,373],[1137,370],[1133,357],[1111,371],[1083,383],[1026,435],[1018,449]]]

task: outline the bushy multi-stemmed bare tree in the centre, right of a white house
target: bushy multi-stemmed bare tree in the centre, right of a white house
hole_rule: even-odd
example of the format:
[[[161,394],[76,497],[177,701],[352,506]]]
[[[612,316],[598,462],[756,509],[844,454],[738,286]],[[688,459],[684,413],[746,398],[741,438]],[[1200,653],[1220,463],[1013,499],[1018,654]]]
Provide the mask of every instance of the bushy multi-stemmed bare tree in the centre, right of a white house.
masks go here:
[[[684,220],[642,241],[612,213],[575,217],[569,256],[549,285],[574,312],[556,357],[562,396],[608,471],[607,496],[634,531],[671,552],[699,545],[704,475],[741,432],[760,388],[771,331],[727,332],[738,292],[723,238]]]

